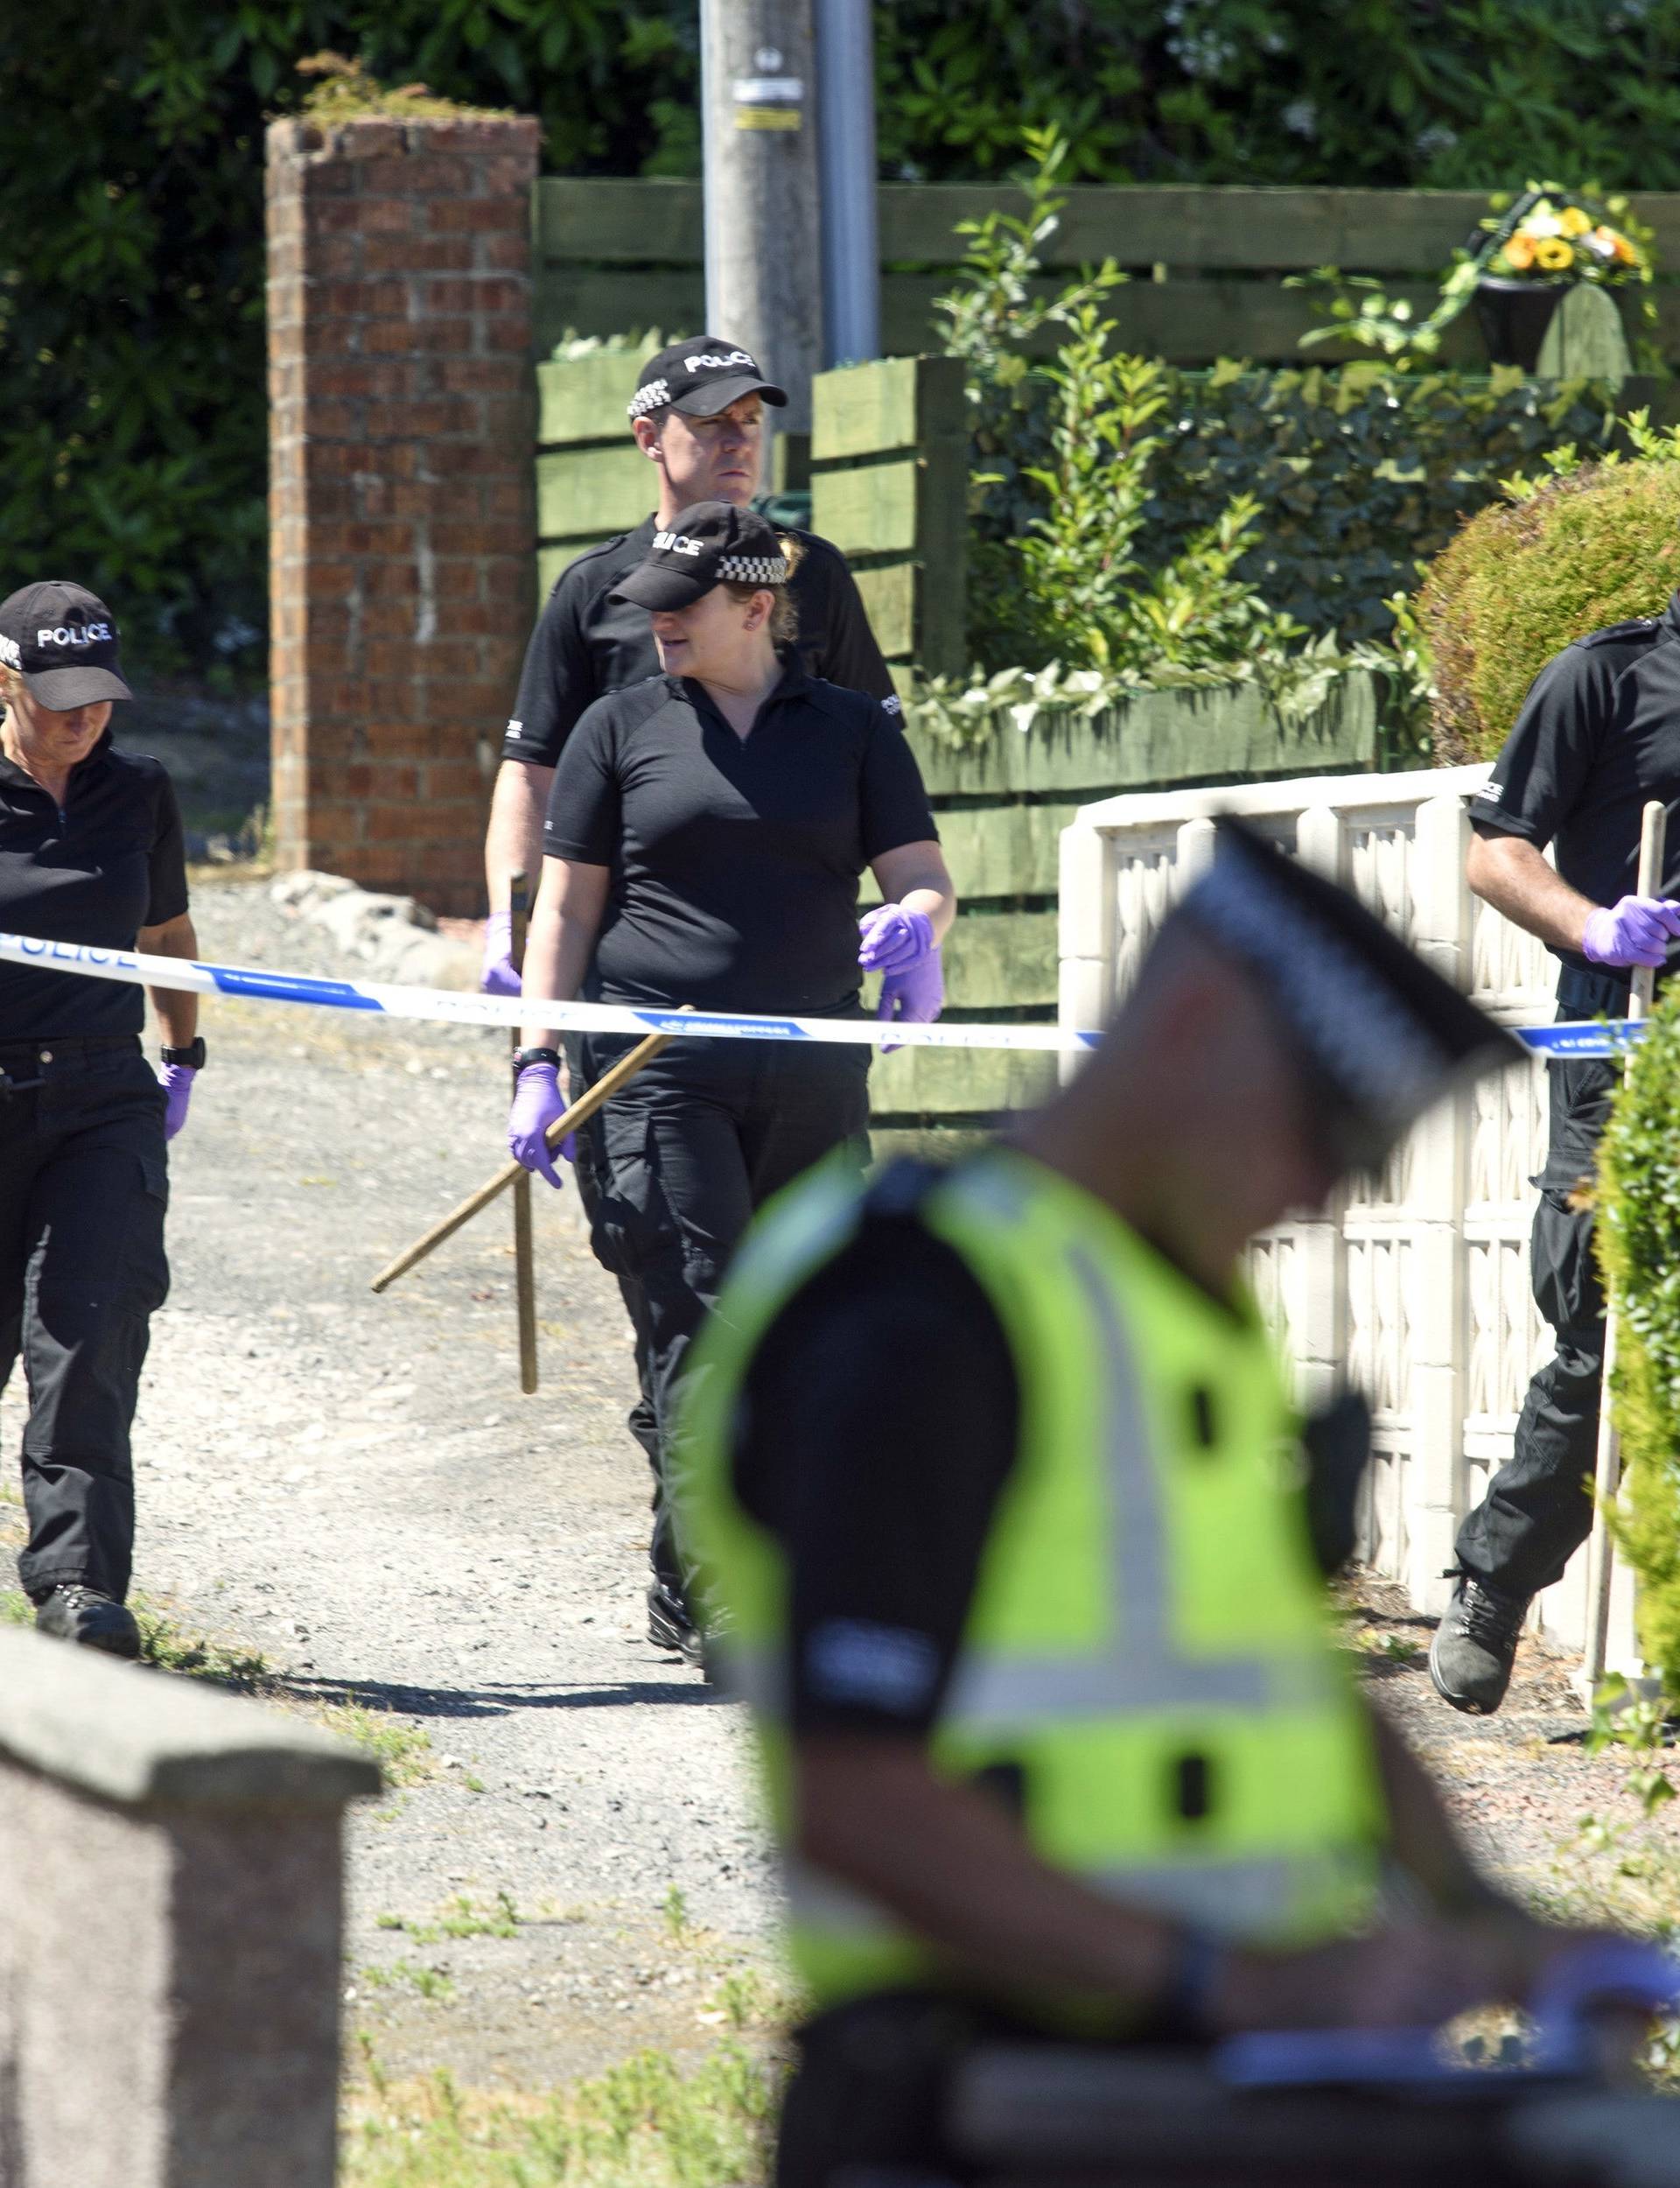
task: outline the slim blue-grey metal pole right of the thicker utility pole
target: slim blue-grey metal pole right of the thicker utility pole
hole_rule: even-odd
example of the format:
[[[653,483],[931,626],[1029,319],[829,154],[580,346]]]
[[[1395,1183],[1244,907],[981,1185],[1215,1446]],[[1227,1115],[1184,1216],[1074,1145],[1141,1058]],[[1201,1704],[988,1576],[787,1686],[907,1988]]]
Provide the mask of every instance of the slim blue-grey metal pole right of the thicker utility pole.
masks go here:
[[[816,114],[822,361],[855,365],[882,354],[871,0],[816,0]]]

